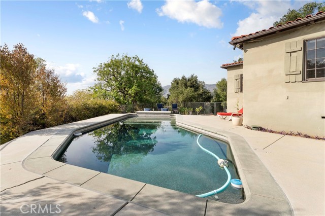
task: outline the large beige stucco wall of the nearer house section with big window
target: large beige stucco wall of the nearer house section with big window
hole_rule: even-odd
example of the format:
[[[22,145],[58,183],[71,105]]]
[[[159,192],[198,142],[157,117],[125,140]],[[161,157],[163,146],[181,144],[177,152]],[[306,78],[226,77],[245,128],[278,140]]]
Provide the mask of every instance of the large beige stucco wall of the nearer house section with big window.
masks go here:
[[[325,136],[325,82],[284,82],[284,44],[322,37],[324,26],[322,22],[244,44],[244,125]]]

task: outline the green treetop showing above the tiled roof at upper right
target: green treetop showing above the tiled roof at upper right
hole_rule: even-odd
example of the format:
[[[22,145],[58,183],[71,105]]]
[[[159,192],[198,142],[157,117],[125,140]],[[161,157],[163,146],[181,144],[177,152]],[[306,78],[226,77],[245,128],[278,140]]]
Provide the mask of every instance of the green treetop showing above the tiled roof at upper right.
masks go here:
[[[286,22],[294,21],[298,18],[305,18],[309,14],[315,15],[318,11],[325,11],[325,3],[310,2],[301,7],[298,11],[289,9],[279,21],[273,23],[273,26],[276,27],[279,24],[285,24]]]

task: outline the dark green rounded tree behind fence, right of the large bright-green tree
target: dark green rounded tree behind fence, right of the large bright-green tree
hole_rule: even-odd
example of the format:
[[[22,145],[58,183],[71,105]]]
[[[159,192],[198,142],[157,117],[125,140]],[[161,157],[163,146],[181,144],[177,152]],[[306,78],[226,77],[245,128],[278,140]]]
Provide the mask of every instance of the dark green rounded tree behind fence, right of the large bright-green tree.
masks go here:
[[[169,89],[170,103],[181,102],[209,102],[212,98],[211,92],[205,87],[203,81],[199,81],[193,74],[190,77],[182,76],[172,81]]]

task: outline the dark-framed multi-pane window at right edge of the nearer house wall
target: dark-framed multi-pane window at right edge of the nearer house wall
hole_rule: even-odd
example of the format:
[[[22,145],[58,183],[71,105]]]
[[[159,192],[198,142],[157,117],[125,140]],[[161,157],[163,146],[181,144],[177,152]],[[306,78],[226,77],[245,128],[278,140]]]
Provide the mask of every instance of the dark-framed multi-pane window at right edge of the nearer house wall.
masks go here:
[[[325,37],[306,43],[305,80],[325,78]]]

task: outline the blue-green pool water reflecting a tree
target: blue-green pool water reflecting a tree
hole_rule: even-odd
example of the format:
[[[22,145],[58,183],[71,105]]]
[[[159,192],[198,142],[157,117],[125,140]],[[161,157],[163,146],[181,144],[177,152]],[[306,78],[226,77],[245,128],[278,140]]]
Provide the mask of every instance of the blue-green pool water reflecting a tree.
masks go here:
[[[173,119],[131,118],[74,138],[58,160],[198,195],[221,187],[227,174],[214,157],[199,148],[197,137],[177,127]],[[232,178],[238,178],[226,143],[203,136],[200,144],[229,160]],[[217,196],[221,202],[244,201],[243,191],[231,186]]]

